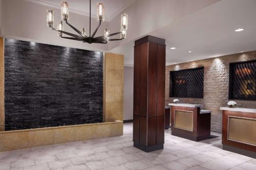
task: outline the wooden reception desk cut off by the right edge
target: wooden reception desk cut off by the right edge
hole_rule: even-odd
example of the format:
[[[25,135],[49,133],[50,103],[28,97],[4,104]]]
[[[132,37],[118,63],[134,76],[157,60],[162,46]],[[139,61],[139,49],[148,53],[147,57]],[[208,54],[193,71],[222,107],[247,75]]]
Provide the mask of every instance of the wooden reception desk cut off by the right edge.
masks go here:
[[[221,107],[223,149],[256,158],[256,109]]]

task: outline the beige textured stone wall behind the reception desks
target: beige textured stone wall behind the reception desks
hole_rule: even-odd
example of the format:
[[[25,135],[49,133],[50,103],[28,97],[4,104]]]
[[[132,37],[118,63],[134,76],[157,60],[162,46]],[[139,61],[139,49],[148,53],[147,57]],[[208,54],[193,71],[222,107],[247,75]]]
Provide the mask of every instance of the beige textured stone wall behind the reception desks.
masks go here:
[[[198,60],[193,62],[168,65],[165,74],[165,105],[173,103],[169,98],[169,71],[204,66],[204,98],[179,98],[181,103],[203,104],[203,109],[211,110],[211,131],[222,131],[222,111],[228,102],[229,63],[256,59],[256,51],[222,57]],[[234,100],[237,107],[256,108],[256,101]]]

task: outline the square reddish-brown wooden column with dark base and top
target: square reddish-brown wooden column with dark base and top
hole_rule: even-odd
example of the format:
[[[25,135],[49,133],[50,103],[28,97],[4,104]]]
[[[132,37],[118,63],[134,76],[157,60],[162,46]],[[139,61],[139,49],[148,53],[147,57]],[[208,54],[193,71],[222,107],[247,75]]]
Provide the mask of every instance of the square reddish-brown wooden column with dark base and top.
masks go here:
[[[165,40],[146,36],[134,46],[134,147],[163,149]]]

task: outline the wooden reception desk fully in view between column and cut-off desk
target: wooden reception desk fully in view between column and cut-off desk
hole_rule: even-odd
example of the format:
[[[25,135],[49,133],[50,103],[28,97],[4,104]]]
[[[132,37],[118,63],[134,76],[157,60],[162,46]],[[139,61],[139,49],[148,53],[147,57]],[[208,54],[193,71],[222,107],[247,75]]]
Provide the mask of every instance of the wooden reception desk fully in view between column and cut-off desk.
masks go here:
[[[170,103],[169,106],[172,106],[172,135],[194,141],[210,138],[211,111],[200,110],[202,105]]]

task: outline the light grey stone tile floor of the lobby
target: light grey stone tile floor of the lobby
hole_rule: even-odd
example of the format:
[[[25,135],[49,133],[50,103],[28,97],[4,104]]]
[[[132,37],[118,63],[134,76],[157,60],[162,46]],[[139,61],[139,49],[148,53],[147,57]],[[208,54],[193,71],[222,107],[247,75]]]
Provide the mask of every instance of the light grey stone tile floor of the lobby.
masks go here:
[[[0,153],[0,169],[256,169],[256,159],[221,149],[221,137],[194,142],[165,131],[164,150],[145,153],[133,147],[133,124],[124,135]]]

